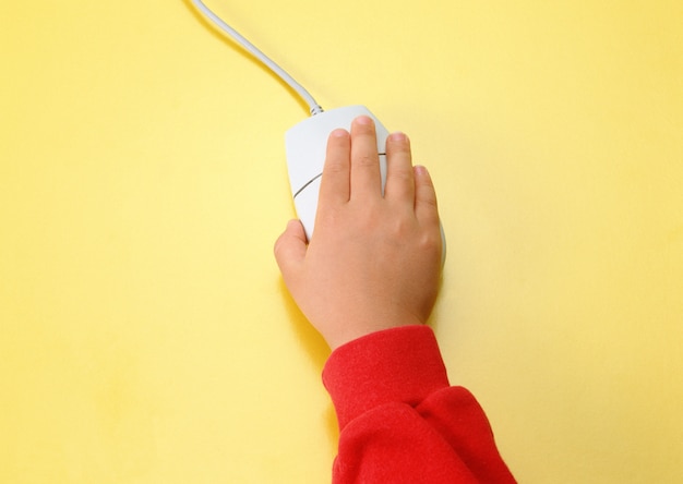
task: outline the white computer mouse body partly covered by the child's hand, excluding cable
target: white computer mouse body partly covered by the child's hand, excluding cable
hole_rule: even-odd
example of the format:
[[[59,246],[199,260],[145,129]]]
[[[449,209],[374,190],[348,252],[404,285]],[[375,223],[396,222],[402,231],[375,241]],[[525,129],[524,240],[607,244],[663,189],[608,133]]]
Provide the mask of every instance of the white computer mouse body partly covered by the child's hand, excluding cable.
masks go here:
[[[390,133],[378,118],[364,106],[347,106],[323,111],[296,124],[285,134],[289,186],[295,201],[297,216],[303,225],[308,240],[313,235],[317,195],[325,164],[327,138],[336,129],[351,129],[351,122],[359,116],[372,118],[378,135],[382,193],[386,184],[386,138]],[[442,265],[446,257],[446,241],[441,227]]]

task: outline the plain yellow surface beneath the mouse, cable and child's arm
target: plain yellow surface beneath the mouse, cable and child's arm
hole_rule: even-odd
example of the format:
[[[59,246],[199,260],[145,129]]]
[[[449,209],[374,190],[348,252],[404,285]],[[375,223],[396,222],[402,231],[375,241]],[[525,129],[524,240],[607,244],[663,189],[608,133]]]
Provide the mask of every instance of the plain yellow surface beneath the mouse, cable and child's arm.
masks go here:
[[[683,3],[211,4],[411,135],[433,325],[519,481],[683,482]],[[0,19],[0,482],[328,482],[271,252],[305,109],[187,1]]]

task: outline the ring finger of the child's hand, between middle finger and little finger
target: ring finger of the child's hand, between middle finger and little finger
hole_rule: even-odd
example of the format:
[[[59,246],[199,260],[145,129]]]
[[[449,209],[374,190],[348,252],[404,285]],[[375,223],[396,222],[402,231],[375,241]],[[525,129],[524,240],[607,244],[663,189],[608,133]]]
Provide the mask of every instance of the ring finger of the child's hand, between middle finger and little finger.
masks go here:
[[[415,206],[415,177],[410,141],[404,133],[394,133],[386,138],[386,186],[384,198],[405,205]]]

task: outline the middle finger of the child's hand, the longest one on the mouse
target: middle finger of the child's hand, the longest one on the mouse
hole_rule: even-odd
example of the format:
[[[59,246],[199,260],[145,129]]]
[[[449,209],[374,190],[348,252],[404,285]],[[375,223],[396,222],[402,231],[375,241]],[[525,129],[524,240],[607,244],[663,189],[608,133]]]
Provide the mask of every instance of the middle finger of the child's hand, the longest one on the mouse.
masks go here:
[[[351,123],[351,198],[382,196],[382,177],[374,122],[367,116]]]

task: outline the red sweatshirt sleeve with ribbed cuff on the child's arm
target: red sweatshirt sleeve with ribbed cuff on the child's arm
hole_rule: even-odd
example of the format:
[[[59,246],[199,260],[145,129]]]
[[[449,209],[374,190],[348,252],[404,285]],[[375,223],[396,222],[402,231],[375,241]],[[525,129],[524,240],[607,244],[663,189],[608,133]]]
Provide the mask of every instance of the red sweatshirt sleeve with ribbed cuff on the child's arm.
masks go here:
[[[323,383],[340,429],[334,483],[515,482],[477,400],[450,386],[428,326],[387,329],[338,348]]]

